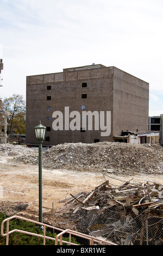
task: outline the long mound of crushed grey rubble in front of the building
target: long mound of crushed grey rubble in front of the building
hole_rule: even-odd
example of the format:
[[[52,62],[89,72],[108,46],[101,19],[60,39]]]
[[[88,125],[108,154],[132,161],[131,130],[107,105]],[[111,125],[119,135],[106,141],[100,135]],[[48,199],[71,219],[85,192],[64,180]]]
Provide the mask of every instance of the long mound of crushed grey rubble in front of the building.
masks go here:
[[[15,156],[17,163],[38,164],[38,148],[1,144],[0,154]],[[42,164],[49,169],[162,174],[163,149],[159,144],[64,143],[43,148]]]

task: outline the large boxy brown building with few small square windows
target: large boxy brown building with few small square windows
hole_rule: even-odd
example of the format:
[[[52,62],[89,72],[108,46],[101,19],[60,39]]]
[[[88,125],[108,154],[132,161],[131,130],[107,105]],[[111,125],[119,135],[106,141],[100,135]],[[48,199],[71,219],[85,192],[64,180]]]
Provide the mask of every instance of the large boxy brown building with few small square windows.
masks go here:
[[[115,66],[27,76],[26,95],[27,144],[37,144],[40,120],[44,145],[114,142],[122,131],[148,131],[149,84]]]

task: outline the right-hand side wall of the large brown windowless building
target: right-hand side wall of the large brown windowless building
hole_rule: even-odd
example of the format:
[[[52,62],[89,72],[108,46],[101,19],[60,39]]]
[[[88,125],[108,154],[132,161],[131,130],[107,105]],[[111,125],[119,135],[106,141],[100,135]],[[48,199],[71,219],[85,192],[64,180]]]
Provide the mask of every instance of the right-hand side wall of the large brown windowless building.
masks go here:
[[[114,68],[113,135],[148,131],[149,84]]]

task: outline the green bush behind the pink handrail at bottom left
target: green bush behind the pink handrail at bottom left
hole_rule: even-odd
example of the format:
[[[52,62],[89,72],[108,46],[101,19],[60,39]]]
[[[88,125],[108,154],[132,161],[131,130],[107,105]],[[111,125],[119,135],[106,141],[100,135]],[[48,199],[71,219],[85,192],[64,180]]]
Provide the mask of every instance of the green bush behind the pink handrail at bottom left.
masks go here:
[[[7,218],[7,216],[5,216],[5,214],[2,214],[0,212],[0,225],[5,218]],[[20,230],[28,231],[35,234],[43,234],[43,231],[39,229],[38,225],[32,222],[26,222],[20,219],[13,219],[9,221],[9,230],[13,230],[13,229],[20,229]],[[6,222],[4,224],[4,233],[6,233]],[[46,236],[55,237],[57,236],[57,234],[51,233],[50,231],[46,230]],[[68,241],[68,239],[69,238],[64,237],[63,240]],[[6,237],[0,235],[0,245],[5,245],[5,241],[6,241]],[[73,243],[77,243],[74,237],[72,237],[71,241]],[[54,244],[55,244],[54,240],[46,239],[46,245],[54,245]],[[43,245],[43,238],[14,232],[9,235],[9,245]]]

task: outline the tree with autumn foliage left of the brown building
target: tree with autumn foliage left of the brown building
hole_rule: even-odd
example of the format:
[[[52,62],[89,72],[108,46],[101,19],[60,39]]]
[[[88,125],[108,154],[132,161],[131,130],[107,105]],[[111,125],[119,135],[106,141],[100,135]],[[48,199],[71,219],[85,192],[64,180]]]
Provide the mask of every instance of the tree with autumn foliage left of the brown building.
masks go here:
[[[12,132],[18,134],[26,133],[26,103],[23,96],[13,94],[11,97],[5,97],[2,106],[5,111],[10,112],[8,117],[7,135]]]

